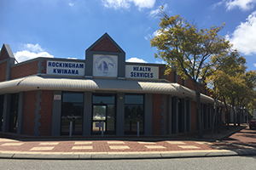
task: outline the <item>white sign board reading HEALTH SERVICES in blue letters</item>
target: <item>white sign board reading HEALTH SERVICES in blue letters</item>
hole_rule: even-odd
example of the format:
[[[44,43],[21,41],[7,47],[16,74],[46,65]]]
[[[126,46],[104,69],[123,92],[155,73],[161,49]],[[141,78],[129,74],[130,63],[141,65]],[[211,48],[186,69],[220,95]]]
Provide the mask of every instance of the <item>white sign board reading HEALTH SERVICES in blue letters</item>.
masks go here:
[[[158,79],[159,67],[145,65],[125,65],[125,77],[138,79]]]

